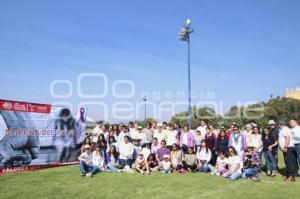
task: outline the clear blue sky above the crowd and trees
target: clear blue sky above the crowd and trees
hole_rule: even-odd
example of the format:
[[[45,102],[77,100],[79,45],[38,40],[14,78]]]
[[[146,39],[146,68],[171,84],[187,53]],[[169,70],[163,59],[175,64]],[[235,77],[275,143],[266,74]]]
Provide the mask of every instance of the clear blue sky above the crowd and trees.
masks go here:
[[[116,102],[140,103],[144,93],[155,104],[185,101],[186,96],[176,95],[187,90],[186,44],[178,32],[191,18],[193,103],[221,102],[226,110],[238,102],[267,100],[300,85],[299,10],[297,0],[1,1],[0,98],[75,106],[102,102],[109,112]],[[81,73],[105,74],[107,96],[80,97]],[[70,81],[72,95],[51,96],[54,80]],[[116,80],[134,82],[134,95],[114,97]],[[102,81],[85,79],[82,90],[101,93]],[[117,89],[119,94],[129,91],[128,85]],[[57,85],[55,92],[68,89]],[[166,92],[174,96],[154,97]],[[182,110],[185,106],[176,109]],[[88,111],[104,119],[101,107]],[[170,116],[165,111],[159,119]],[[135,118],[143,119],[143,110]],[[112,114],[105,119],[119,121]]]

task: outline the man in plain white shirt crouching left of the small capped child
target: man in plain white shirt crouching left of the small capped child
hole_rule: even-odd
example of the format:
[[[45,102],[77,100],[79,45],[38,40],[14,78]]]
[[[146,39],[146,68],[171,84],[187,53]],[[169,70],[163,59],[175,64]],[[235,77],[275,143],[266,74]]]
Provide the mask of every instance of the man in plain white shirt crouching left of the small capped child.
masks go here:
[[[129,142],[129,136],[124,136],[124,142],[121,142],[119,145],[120,151],[120,164],[122,168],[125,166],[131,166],[132,163],[132,156],[134,152],[134,147],[131,142]]]

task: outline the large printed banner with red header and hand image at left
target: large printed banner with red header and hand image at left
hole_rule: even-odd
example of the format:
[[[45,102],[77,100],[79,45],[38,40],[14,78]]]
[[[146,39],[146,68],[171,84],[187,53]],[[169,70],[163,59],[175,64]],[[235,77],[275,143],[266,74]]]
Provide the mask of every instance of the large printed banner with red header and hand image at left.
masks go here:
[[[0,100],[0,173],[76,163],[85,118],[83,108]]]

